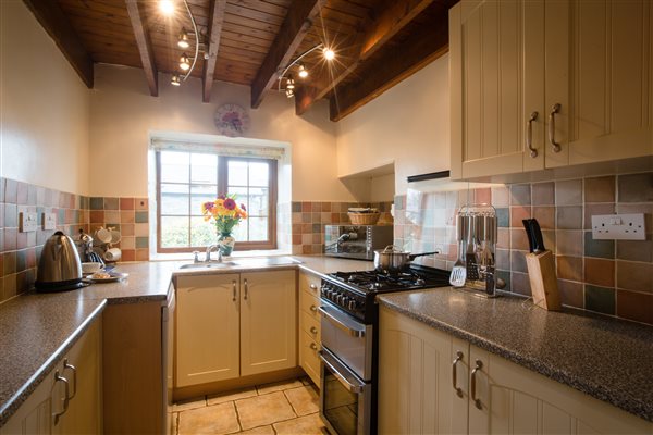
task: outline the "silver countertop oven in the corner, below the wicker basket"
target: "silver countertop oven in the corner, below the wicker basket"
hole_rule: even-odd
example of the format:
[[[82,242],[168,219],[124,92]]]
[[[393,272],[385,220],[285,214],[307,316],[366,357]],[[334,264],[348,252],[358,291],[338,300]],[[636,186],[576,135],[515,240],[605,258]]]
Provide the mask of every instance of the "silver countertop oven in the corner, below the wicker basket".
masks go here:
[[[358,260],[374,260],[374,250],[393,243],[392,225],[325,225],[324,253]]]

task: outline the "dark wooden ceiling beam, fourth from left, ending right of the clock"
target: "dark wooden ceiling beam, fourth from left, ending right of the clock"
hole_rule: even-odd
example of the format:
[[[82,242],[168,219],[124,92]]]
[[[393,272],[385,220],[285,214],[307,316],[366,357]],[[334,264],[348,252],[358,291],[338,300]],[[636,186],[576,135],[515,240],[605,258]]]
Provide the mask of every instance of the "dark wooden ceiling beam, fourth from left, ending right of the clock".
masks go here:
[[[266,90],[279,78],[279,69],[291,62],[310,28],[312,20],[320,13],[323,2],[324,0],[293,1],[281,29],[251,84],[252,108],[256,109],[260,105]]]

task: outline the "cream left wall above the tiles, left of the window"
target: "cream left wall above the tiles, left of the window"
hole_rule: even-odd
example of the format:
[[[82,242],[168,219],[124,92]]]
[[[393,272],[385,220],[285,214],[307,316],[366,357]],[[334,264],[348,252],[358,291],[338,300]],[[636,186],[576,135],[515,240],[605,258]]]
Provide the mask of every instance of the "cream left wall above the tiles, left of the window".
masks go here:
[[[22,1],[0,15],[0,175],[88,194],[89,90]]]

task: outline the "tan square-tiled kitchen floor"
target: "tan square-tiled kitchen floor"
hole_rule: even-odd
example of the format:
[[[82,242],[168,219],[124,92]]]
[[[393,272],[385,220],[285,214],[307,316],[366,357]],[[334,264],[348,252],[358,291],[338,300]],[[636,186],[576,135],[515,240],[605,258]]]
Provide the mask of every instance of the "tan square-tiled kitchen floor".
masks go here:
[[[308,380],[201,397],[174,406],[176,434],[326,434],[318,399]]]

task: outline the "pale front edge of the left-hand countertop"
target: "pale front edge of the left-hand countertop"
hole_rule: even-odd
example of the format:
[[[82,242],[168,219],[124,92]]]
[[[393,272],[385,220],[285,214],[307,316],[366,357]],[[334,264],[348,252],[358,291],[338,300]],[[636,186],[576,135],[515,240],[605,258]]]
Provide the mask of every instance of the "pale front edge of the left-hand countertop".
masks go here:
[[[61,346],[52,352],[50,358],[38,368],[38,370],[25,382],[25,384],[16,390],[16,393],[9,398],[2,408],[0,408],[0,427],[2,427],[9,419],[15,413],[15,411],[23,405],[23,402],[29,397],[32,393],[38,387],[38,385],[45,380],[46,375],[54,368],[59,359],[69,351],[86,332],[93,322],[95,322],[98,315],[104,310],[107,306],[107,299],[99,302],[99,304],[88,314],[88,316],[71,333],[71,335],[61,344]]]

